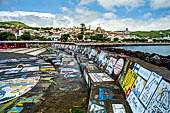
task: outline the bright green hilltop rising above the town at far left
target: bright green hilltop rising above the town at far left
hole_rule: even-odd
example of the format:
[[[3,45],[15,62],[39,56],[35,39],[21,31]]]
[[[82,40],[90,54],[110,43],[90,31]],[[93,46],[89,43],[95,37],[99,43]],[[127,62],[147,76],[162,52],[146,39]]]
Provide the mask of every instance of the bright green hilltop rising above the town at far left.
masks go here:
[[[29,27],[28,25],[26,25],[26,24],[24,24],[22,22],[18,22],[18,21],[0,22],[0,26],[4,26],[5,24],[19,26],[19,27],[24,27],[24,28],[28,28]]]

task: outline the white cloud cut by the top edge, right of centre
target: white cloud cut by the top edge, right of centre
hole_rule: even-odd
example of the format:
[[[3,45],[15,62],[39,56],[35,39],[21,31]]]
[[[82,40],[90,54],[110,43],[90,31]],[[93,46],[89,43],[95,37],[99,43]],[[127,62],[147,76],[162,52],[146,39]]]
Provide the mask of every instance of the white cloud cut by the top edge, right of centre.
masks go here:
[[[98,3],[107,10],[111,10],[115,6],[125,6],[127,9],[131,10],[133,8],[143,6],[145,0],[97,0]]]

